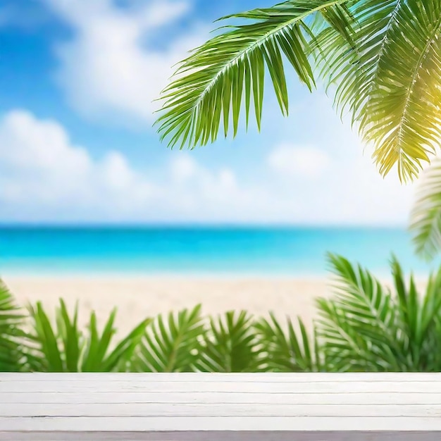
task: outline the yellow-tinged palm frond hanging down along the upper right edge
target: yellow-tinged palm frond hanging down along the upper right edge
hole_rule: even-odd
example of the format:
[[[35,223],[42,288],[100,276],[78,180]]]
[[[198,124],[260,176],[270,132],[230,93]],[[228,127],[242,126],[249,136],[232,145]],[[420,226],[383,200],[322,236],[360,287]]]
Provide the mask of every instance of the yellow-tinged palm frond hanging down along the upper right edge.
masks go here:
[[[380,172],[397,164],[406,180],[439,146],[441,2],[397,1],[389,23],[360,110],[361,132],[375,144]]]

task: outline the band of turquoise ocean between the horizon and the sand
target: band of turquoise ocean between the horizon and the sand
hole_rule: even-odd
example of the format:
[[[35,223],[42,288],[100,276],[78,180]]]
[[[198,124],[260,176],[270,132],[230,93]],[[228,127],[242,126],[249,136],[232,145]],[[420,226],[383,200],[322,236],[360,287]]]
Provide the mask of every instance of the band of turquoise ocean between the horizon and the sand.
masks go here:
[[[399,228],[2,227],[0,275],[321,277],[327,251],[377,275],[392,253],[407,272],[430,270]]]

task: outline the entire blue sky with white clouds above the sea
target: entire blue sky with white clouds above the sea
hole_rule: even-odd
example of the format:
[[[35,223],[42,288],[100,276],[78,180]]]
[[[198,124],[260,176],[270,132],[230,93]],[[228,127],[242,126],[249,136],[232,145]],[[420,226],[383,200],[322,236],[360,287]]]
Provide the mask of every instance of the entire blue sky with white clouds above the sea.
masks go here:
[[[254,127],[194,151],[159,142],[152,102],[213,20],[265,0],[2,0],[0,221],[404,225],[385,180],[323,92],[292,73]]]

